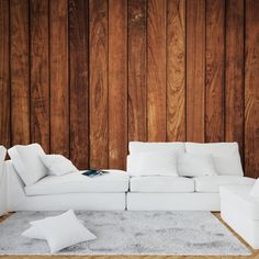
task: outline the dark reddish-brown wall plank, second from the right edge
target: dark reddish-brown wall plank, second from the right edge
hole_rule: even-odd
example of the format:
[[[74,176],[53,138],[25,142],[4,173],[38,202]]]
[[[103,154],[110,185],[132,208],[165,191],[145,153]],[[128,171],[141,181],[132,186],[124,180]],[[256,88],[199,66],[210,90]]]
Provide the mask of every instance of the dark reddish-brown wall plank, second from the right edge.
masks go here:
[[[244,148],[244,1],[226,2],[225,140]]]

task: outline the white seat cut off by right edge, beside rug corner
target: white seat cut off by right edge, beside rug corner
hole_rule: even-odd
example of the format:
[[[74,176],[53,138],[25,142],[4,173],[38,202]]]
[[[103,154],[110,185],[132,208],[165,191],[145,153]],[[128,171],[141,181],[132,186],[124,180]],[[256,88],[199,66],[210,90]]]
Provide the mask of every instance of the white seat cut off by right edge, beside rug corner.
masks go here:
[[[221,216],[254,249],[259,249],[259,198],[251,185],[221,187]]]

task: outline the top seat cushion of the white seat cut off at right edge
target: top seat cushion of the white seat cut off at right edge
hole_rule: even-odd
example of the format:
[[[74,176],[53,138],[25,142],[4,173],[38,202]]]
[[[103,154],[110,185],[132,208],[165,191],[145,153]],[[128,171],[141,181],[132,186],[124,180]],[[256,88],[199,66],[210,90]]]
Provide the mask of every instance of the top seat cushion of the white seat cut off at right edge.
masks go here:
[[[251,198],[250,190],[251,185],[225,185],[221,187],[219,196],[246,217],[259,221],[259,199]]]

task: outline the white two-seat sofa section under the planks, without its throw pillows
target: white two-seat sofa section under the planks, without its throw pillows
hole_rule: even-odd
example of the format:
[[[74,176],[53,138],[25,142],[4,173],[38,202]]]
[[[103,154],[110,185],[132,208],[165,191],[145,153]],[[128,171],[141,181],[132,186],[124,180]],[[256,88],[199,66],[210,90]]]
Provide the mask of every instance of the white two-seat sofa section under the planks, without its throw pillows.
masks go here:
[[[138,157],[150,150],[171,149],[177,153],[212,154],[218,161],[218,170],[228,165],[228,174],[174,177],[138,176],[135,173]],[[225,154],[225,155],[224,155]],[[228,156],[228,159],[225,159]],[[223,160],[218,160],[222,157]],[[221,164],[221,165],[219,165]],[[235,164],[235,165],[234,165]],[[255,179],[244,177],[238,145],[236,143],[130,143],[127,171],[131,176],[127,193],[130,211],[221,211],[219,187],[225,184],[250,185]]]

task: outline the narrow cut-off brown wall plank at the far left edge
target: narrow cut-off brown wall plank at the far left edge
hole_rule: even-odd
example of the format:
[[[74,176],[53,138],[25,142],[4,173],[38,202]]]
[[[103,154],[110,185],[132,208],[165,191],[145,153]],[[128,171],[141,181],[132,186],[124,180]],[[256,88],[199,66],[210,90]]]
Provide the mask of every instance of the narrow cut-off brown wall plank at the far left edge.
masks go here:
[[[10,147],[9,1],[0,1],[0,143]]]

